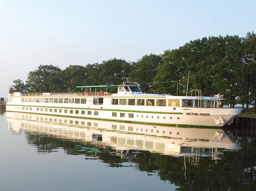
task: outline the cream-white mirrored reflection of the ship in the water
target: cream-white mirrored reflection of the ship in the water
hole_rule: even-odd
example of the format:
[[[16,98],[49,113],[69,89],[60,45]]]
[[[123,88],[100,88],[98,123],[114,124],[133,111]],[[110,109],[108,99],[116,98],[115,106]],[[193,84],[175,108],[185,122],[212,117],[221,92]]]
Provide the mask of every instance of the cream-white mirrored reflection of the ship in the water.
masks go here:
[[[240,149],[232,135],[222,129],[135,125],[16,112],[7,112],[6,117],[8,128],[14,132],[26,130],[79,142],[95,142],[95,148],[111,146],[116,149],[116,155],[139,149],[164,155],[218,159],[222,155],[220,149]]]

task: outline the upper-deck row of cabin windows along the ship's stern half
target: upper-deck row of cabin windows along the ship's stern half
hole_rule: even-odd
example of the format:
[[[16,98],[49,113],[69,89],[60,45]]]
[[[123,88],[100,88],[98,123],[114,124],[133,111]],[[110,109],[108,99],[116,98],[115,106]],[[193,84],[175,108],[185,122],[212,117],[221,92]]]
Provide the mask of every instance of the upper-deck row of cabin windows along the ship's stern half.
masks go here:
[[[41,103],[86,103],[84,98],[21,98],[21,102]]]

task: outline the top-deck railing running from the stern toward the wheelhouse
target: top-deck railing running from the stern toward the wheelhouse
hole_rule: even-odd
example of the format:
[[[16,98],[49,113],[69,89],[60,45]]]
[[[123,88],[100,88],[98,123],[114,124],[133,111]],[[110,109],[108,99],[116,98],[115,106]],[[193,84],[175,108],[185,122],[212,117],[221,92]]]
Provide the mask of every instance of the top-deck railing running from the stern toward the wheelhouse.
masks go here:
[[[47,92],[47,93],[21,93],[21,96],[109,96],[109,92]]]

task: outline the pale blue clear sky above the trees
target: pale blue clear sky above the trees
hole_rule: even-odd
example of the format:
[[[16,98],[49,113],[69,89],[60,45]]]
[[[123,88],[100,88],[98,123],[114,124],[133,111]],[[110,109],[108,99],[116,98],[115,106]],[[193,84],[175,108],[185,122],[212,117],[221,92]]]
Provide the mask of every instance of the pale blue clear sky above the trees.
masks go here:
[[[255,10],[255,0],[0,0],[0,95],[40,64],[136,62],[203,37],[246,37]]]

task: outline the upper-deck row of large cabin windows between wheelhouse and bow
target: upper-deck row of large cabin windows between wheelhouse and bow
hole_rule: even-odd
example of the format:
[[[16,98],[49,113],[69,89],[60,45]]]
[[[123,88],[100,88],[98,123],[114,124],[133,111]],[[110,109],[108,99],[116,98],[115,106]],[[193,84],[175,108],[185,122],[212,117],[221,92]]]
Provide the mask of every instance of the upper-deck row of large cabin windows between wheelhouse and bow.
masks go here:
[[[136,100],[136,101],[135,101]],[[145,105],[145,99],[112,99],[112,105]],[[147,106],[155,106],[155,99],[146,99]],[[166,99],[157,99],[156,101],[157,106],[166,106]],[[169,99],[168,100],[169,106],[180,106],[179,99]]]

